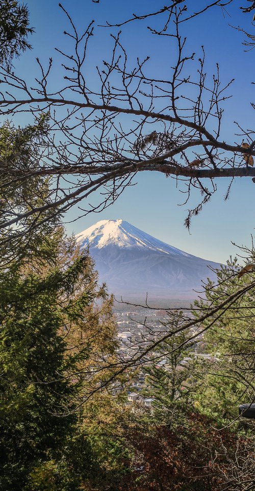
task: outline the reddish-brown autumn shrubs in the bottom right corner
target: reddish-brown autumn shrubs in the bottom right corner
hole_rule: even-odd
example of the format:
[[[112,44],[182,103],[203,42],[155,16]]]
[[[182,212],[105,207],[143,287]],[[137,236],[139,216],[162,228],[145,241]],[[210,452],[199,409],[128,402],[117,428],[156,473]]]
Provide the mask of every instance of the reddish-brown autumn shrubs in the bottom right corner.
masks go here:
[[[226,482],[227,489],[244,489],[235,487],[233,461],[252,468],[248,440],[229,429],[220,430],[213,420],[196,413],[183,415],[177,426],[133,428],[127,439],[135,457],[122,491],[222,491]]]

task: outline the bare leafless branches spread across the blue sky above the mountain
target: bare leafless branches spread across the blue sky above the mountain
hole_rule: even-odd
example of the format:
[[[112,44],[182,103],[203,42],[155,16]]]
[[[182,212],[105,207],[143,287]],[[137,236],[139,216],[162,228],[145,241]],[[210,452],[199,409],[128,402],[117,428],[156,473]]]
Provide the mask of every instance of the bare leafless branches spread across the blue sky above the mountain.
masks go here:
[[[202,25],[211,9],[218,9],[220,15],[231,4],[232,0],[207,2],[199,11],[194,2],[177,0],[158,10],[120,19],[118,24],[108,20],[105,30],[112,39],[112,54],[94,67],[89,60],[96,23],[91,21],[82,31],[60,4],[69,26],[64,35],[70,41],[70,51],[57,48],[63,81],[52,80],[52,58],[47,66],[37,58],[41,77],[35,82],[2,69],[2,116],[29,112],[38,119],[44,114],[49,128],[43,144],[37,144],[33,165],[26,170],[17,161],[8,170],[2,165],[3,187],[8,188],[10,179],[20,183],[47,176],[50,191],[46,203],[33,210],[19,213],[7,206],[1,227],[15,224],[28,232],[38,225],[45,207],[51,214],[65,213],[74,205],[79,205],[81,215],[98,212],[114,203],[144,171],[173,178],[186,202],[193,190],[200,190],[202,198],[190,208],[185,222],[190,227],[192,216],[217,191],[218,178],[228,178],[226,198],[236,178],[255,180],[254,129],[236,121],[237,135],[229,141],[222,136],[224,105],[231,97],[235,74],[222,83],[215,60],[216,71],[210,79],[205,50],[192,52],[186,37],[186,27],[194,19]],[[249,2],[241,8],[240,14],[247,16],[254,6]],[[149,56],[134,62],[129,46],[124,46],[121,33],[116,32],[119,27],[128,32],[132,23],[140,23],[143,35],[147,20],[151,35],[161,37],[173,49],[169,78],[151,71]],[[227,29],[231,27],[227,26],[226,36]],[[88,61],[90,72],[94,71],[92,85]],[[247,71],[250,83],[252,75]],[[100,199],[93,200],[98,190]]]

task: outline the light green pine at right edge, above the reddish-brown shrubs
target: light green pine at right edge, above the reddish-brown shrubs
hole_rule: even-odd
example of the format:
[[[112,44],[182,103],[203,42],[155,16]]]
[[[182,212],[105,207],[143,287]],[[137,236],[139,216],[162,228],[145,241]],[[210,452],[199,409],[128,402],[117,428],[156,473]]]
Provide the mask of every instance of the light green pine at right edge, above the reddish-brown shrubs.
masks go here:
[[[254,264],[254,251],[248,251],[247,264]],[[207,302],[217,305],[237,291],[249,285],[254,278],[254,266],[245,274],[238,274],[237,260],[229,261],[218,272],[218,285],[208,284]],[[196,407],[203,413],[217,418],[222,424],[238,416],[241,403],[252,403],[254,386],[254,292],[237,298],[220,318],[209,318],[203,328],[206,350],[212,355],[209,361],[198,363],[200,380],[196,392]],[[197,302],[201,308],[205,302]],[[242,420],[241,426],[244,421]],[[240,420],[238,420],[240,424]]]

